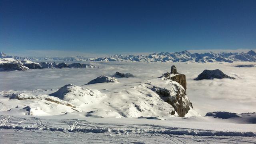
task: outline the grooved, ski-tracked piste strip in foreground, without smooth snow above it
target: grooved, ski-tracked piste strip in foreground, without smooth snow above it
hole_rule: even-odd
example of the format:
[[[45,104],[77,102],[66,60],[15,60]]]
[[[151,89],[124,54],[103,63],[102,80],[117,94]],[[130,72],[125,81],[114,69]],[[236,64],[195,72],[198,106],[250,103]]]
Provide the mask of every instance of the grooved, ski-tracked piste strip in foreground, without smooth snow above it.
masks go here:
[[[0,116],[0,143],[254,143],[255,132],[178,128],[154,124],[111,124],[78,119]],[[84,141],[86,140],[86,141]]]

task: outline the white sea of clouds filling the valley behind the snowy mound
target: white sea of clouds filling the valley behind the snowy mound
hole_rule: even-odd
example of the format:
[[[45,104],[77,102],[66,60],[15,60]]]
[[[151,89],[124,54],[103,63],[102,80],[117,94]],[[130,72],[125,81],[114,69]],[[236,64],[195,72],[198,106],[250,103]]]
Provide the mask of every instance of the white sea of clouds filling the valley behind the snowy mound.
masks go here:
[[[122,78],[120,82],[140,82],[157,78],[175,65],[178,72],[186,74],[187,95],[194,109],[201,115],[206,112],[255,112],[256,67],[235,67],[236,63],[161,63],[161,62],[94,62],[100,68],[37,69],[27,71],[0,72],[0,91],[58,89],[65,84],[82,86],[100,76],[111,76],[116,71],[132,73],[136,78]],[[220,69],[236,80],[193,80],[203,70]]]

